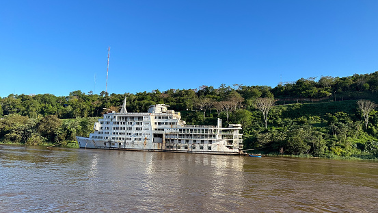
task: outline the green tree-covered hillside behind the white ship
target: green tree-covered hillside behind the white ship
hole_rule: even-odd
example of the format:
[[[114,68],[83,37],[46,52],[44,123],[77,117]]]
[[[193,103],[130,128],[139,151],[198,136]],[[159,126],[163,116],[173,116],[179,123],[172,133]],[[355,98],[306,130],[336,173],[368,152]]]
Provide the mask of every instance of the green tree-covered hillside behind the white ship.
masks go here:
[[[249,153],[376,159],[377,91],[378,72],[301,78],[275,88],[222,84],[136,94],[10,94],[0,98],[0,142],[75,147],[75,136],[89,136],[98,117],[119,111],[127,97],[128,112],[165,103],[187,124],[215,125],[217,117],[224,126],[241,123]]]

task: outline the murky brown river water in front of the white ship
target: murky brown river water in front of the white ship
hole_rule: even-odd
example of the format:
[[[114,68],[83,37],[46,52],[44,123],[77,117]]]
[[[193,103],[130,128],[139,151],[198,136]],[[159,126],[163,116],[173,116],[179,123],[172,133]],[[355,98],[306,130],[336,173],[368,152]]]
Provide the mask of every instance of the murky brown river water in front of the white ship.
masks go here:
[[[378,162],[0,145],[0,212],[378,212]]]

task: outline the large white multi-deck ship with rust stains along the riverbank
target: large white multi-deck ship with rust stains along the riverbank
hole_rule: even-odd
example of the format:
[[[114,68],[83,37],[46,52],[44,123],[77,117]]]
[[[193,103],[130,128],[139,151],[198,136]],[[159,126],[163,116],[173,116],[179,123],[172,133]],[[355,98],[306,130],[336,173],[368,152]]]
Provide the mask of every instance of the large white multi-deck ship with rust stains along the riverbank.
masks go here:
[[[240,124],[221,127],[185,125],[180,112],[168,105],[151,105],[148,112],[129,113],[126,98],[120,112],[108,112],[94,124],[89,138],[77,136],[80,148],[134,151],[171,151],[238,155],[243,139]]]

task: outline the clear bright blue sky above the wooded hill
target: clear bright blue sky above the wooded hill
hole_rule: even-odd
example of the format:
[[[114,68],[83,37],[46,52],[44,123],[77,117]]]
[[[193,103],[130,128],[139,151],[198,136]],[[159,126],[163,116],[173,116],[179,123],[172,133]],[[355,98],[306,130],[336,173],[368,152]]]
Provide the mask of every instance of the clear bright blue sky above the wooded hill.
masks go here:
[[[0,1],[0,97],[378,71],[378,1]]]

